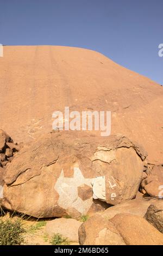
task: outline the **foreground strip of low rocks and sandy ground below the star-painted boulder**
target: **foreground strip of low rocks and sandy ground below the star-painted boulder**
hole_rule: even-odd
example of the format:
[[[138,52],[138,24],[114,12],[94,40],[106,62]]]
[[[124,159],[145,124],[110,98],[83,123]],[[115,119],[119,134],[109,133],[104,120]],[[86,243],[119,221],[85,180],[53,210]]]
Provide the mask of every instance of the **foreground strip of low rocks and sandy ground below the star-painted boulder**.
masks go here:
[[[134,200],[80,220],[70,216],[36,219],[7,211],[1,218],[21,220],[26,230],[22,245],[52,245],[55,235],[66,239],[58,245],[163,245],[162,200],[141,193]]]

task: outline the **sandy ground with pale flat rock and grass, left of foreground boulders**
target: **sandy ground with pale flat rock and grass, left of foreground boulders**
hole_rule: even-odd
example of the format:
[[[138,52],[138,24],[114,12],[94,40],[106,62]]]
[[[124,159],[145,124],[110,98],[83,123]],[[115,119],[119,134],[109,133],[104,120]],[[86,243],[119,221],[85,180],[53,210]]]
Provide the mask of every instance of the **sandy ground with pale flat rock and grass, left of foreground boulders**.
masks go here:
[[[5,215],[1,218],[3,218],[4,221],[8,218],[11,221],[15,221],[17,218],[21,221],[22,227],[26,230],[23,234],[24,242],[22,245],[52,245],[51,240],[54,234],[60,234],[62,238],[67,238],[68,245],[79,245],[78,228],[82,224],[82,220],[76,221],[71,219],[73,223],[77,222],[78,227],[75,227],[73,223],[70,223],[69,219],[58,219],[59,222],[55,228],[53,224],[55,220],[51,219],[37,220],[36,218],[22,216],[20,214],[14,214],[13,216],[11,212],[5,212]],[[63,227],[63,225],[60,225],[62,221],[68,223],[64,223],[65,225]],[[70,226],[70,224],[72,225]],[[49,226],[52,227],[51,230],[49,230]],[[54,231],[53,233],[52,230]]]

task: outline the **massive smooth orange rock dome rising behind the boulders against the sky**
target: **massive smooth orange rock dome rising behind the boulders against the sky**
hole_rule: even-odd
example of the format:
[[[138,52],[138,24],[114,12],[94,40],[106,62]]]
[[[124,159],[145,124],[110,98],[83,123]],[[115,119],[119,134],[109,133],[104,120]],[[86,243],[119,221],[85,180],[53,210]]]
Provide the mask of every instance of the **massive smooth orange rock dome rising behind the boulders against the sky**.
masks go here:
[[[0,127],[16,141],[46,134],[52,129],[52,112],[64,111],[65,106],[111,111],[111,134],[132,138],[147,150],[150,163],[162,163],[163,87],[159,84],[82,48],[4,46],[4,51],[1,84],[8,86],[0,94],[4,109]]]

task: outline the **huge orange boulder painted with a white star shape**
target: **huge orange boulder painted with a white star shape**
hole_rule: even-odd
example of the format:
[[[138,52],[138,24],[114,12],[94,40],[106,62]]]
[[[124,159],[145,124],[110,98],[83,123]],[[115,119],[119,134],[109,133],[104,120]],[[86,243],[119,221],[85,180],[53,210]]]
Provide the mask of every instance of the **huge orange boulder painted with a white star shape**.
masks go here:
[[[121,135],[92,139],[78,131],[49,133],[8,164],[2,206],[34,217],[79,218],[99,209],[103,192],[97,178],[105,180],[104,203],[134,198],[145,158],[141,147]],[[91,197],[91,190],[97,191],[94,184],[99,185],[97,204]]]

